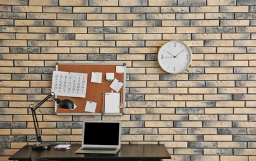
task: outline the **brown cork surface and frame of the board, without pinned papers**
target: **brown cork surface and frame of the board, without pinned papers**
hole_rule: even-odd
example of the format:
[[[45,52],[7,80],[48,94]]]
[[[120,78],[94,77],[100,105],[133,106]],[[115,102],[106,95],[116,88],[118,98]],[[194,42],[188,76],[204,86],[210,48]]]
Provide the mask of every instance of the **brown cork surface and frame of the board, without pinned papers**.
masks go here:
[[[123,67],[123,72],[117,73],[116,67]],[[126,80],[126,64],[125,63],[56,63],[56,71],[63,72],[75,72],[87,74],[87,87],[85,98],[81,97],[69,97],[63,95],[57,95],[56,97],[60,100],[69,98],[77,104],[74,110],[59,108],[55,105],[55,115],[124,115],[125,114],[125,80]],[[102,83],[91,82],[91,77],[93,72],[102,73]],[[120,90],[116,92],[110,85],[113,80],[107,80],[107,73],[114,74],[114,77],[118,82],[122,82],[123,85]],[[120,95],[121,107],[117,110],[119,112],[107,112],[105,109],[105,94],[118,94]],[[86,111],[85,106],[88,102],[93,102],[96,104],[95,111]],[[111,100],[108,100],[111,102]],[[119,103],[118,103],[119,105]],[[87,106],[88,107],[88,106]],[[102,110],[106,110],[102,113]]]

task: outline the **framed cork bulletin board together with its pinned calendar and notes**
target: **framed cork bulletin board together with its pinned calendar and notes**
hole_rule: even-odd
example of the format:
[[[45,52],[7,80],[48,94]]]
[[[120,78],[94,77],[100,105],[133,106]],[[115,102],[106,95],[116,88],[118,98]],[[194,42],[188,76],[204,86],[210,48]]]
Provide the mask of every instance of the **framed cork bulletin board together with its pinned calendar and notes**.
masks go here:
[[[63,85],[73,85],[73,80],[65,82],[64,79],[59,81],[55,78],[62,74],[67,74],[75,80],[79,79],[77,89],[73,89],[75,94],[69,95],[67,90],[65,94],[53,91],[62,89]],[[101,79],[98,79],[98,76],[101,76]],[[56,63],[52,92],[60,100],[69,98],[75,102],[76,107],[69,110],[59,108],[56,104],[55,115],[124,115],[125,76],[125,63]]]

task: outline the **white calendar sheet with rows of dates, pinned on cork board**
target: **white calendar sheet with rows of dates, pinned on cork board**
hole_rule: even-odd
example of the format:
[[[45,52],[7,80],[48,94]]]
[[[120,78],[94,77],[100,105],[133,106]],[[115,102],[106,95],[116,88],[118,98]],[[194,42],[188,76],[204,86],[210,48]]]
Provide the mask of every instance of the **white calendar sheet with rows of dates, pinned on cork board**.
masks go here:
[[[87,74],[78,72],[54,71],[52,75],[52,92],[55,95],[85,98]]]

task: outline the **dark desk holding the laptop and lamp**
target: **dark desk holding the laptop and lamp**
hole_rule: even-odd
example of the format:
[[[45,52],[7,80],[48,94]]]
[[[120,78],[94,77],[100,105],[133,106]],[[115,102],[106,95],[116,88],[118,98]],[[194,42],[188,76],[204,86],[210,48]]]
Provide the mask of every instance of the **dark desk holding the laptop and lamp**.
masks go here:
[[[133,161],[160,161],[162,159],[171,159],[166,147],[157,144],[136,144],[136,145],[121,145],[121,150],[116,154],[75,154],[80,145],[72,145],[69,150],[55,150],[54,146],[50,150],[32,150],[32,146],[24,146],[14,155],[9,157],[9,160],[27,160],[29,155],[52,160],[133,160]]]

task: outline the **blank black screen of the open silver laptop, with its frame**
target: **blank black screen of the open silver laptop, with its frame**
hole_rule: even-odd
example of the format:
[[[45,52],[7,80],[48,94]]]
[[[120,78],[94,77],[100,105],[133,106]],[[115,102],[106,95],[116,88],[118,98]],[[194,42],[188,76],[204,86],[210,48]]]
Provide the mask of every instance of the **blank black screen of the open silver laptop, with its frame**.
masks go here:
[[[85,121],[83,145],[118,146],[121,133],[120,121]]]

